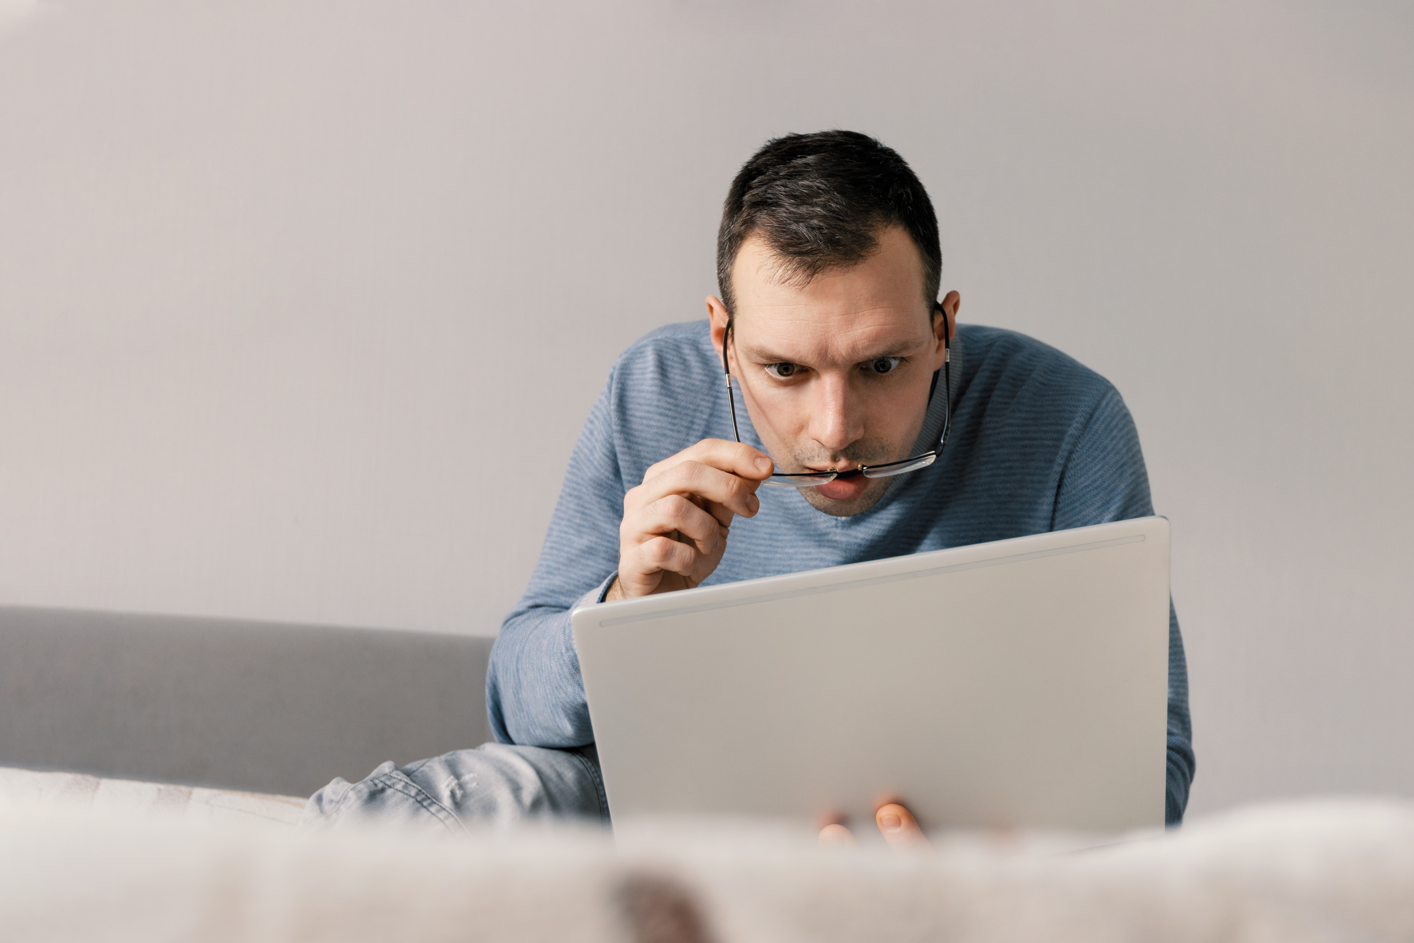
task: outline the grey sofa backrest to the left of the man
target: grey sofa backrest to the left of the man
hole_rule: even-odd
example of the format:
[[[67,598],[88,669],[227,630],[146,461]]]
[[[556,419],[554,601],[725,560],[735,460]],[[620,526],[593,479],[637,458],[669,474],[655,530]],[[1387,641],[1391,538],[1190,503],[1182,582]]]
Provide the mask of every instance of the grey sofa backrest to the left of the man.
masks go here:
[[[307,796],[491,739],[492,640],[0,607],[0,766]]]

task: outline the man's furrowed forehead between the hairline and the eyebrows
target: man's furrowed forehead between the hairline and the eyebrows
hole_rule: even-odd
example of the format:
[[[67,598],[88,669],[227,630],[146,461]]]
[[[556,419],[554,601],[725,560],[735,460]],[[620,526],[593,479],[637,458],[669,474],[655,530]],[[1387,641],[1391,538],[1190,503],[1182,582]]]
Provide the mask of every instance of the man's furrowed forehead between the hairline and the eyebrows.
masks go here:
[[[878,252],[857,266],[805,284],[785,277],[766,242],[751,236],[732,266],[732,294],[734,341],[748,355],[851,362],[932,338],[922,259],[901,228],[880,233]]]

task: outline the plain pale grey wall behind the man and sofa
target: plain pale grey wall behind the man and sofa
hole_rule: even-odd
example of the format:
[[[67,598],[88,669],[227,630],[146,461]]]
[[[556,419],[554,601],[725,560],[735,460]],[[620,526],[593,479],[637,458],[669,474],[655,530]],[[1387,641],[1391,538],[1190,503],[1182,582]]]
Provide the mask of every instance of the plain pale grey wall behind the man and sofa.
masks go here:
[[[1414,795],[1404,3],[0,3],[0,602],[493,633],[768,137],[1109,376],[1192,812]],[[587,574],[587,585],[602,574]]]

